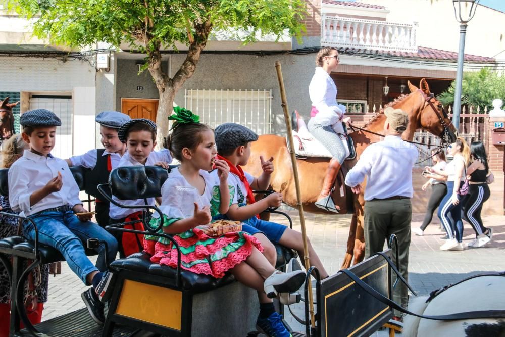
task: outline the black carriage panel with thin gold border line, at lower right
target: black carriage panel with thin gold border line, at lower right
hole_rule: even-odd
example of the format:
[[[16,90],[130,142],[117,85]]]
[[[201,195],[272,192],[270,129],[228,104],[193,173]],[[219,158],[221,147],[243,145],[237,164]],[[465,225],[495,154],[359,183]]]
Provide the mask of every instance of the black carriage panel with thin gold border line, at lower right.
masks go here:
[[[391,257],[391,250],[384,253]],[[392,299],[390,268],[384,257],[349,268],[376,291]],[[321,336],[368,336],[393,317],[393,309],[376,300],[342,272],[321,281],[318,296]]]

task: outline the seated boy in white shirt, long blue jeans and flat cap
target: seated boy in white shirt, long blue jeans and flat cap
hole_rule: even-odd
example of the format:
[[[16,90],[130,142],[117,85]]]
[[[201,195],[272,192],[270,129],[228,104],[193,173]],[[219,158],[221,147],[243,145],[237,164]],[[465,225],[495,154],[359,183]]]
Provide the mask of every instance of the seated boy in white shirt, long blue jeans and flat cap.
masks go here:
[[[93,286],[81,297],[91,317],[103,324],[104,305],[97,293],[108,292],[107,266],[116,257],[117,241],[89,221],[91,215],[86,214],[82,206],[79,187],[67,163],[51,155],[60,119],[51,111],[37,109],[22,114],[20,124],[23,126],[23,140],[30,145],[30,150],[25,150],[23,157],[9,169],[11,208],[31,218],[37,226],[38,241],[59,250],[84,284]],[[23,223],[23,233],[35,239],[35,228],[28,221]],[[100,245],[95,267],[82,244],[88,238],[105,240],[111,261],[105,260],[105,247]]]

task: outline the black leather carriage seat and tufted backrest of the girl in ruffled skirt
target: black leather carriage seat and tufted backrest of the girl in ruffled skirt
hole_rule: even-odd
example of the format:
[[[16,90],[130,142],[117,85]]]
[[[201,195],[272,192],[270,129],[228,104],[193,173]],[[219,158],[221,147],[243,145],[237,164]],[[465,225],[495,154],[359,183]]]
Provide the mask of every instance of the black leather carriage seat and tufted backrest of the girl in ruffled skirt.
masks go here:
[[[177,165],[170,165],[170,170]],[[120,167],[111,172],[109,187],[112,193],[120,200],[144,199],[161,196],[161,186],[168,178],[167,170],[159,166],[127,166]],[[275,245],[277,250],[277,267],[284,267],[287,262],[295,257],[292,250],[280,245]],[[177,271],[175,268],[150,262],[150,255],[140,252],[119,259],[111,263],[110,268],[116,272],[128,271],[143,273],[156,277],[157,282],[167,285],[175,284]],[[184,291],[202,293],[222,287],[233,282],[235,278],[227,273],[223,278],[214,278],[209,275],[195,274],[181,269],[181,284],[178,286]]]

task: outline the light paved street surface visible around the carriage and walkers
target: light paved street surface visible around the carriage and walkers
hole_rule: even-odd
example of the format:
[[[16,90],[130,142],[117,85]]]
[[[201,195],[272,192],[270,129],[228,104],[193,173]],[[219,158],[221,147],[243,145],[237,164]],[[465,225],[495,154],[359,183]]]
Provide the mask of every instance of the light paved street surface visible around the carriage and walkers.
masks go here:
[[[293,222],[299,224],[297,212],[290,212]],[[424,214],[414,214],[413,226],[419,226]],[[313,246],[330,274],[336,273],[342,263],[347,240],[350,216],[329,216],[306,214],[307,232]],[[436,216],[435,216],[436,218]],[[282,222],[276,216],[274,221]],[[435,288],[458,281],[471,274],[482,271],[505,269],[505,217],[486,216],[484,224],[493,228],[493,241],[485,248],[465,251],[442,252],[439,246],[443,241],[438,219],[428,226],[424,236],[413,236],[410,251],[409,281],[420,294],[428,294]],[[294,229],[299,230],[299,225]],[[470,225],[465,223],[464,242],[474,237]],[[62,275],[49,280],[49,301],[45,305],[43,320],[84,307],[80,293],[84,290],[80,280],[63,266]],[[295,312],[302,315],[301,305]],[[294,330],[302,330],[289,314],[287,322]]]

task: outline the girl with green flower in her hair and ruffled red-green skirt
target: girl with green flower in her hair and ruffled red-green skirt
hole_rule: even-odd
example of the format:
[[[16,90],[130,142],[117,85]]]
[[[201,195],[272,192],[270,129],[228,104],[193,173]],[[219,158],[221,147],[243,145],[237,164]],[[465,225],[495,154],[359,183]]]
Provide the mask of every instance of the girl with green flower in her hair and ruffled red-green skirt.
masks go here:
[[[272,309],[273,313],[260,312],[261,317],[275,315],[270,298],[280,291],[297,290],[305,280],[305,273],[275,270],[261,254],[260,242],[244,231],[210,236],[202,227],[213,216],[228,212],[229,167],[225,161],[216,159],[214,131],[199,123],[198,116],[190,111],[174,110],[175,115],[169,119],[176,123],[166,142],[181,165],[170,172],[161,189],[163,232],[173,235],[179,245],[183,269],[216,278],[230,272],[238,281],[256,289],[263,299],[261,305]],[[209,174],[213,167],[217,175]],[[159,223],[159,218],[153,218],[150,225],[156,227]],[[146,235],[144,249],[151,254],[151,262],[177,267],[177,250],[168,240]]]

